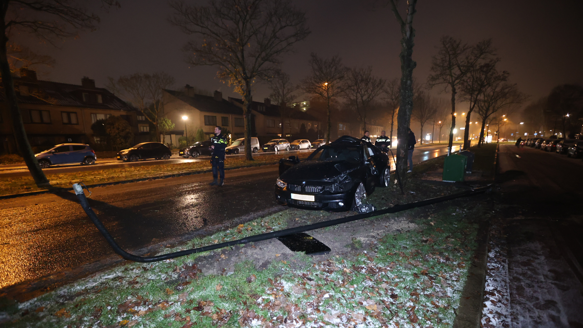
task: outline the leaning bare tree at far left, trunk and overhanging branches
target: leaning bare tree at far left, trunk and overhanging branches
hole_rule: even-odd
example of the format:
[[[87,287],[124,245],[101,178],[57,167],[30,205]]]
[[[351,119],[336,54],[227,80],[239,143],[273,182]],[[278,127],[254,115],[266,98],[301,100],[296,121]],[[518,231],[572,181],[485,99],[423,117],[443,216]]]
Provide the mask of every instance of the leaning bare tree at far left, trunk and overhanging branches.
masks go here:
[[[106,6],[119,5],[113,0],[102,3]],[[0,41],[2,86],[16,145],[30,175],[39,187],[50,187],[50,183],[34,157],[20,116],[8,59],[9,34],[27,33],[54,44],[56,40],[77,36],[80,30],[96,29],[98,22],[99,16],[89,13],[85,7],[73,0],[4,0],[0,3],[0,26],[3,28]]]

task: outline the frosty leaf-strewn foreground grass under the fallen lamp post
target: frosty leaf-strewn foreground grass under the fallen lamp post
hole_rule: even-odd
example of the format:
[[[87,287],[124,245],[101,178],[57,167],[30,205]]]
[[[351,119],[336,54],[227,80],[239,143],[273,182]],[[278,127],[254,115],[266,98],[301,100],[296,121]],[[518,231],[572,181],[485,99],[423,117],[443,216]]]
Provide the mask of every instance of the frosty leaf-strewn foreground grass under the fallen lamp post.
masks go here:
[[[409,182],[405,196],[396,187],[377,189],[370,202],[386,207],[452,191],[452,186]],[[364,228],[353,230],[352,238],[346,226],[311,232],[346,244],[328,256],[270,254],[264,242],[152,264],[129,263],[27,302],[5,303],[3,325],[451,327],[466,261],[475,248],[476,218],[487,212],[483,201],[463,203],[359,221]],[[344,215],[290,209],[163,252]],[[258,266],[252,260],[257,257],[270,260]],[[223,264],[229,260],[232,270]],[[203,274],[199,267],[210,265],[224,268]]]

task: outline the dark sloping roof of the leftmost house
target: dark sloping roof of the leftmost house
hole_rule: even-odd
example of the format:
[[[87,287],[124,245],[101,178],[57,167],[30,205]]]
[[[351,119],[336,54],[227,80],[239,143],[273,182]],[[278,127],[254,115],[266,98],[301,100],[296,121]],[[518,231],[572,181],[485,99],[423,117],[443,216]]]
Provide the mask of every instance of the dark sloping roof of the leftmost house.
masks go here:
[[[25,96],[17,92],[19,103],[41,104],[49,106],[83,107],[93,109],[136,110],[131,105],[115,96],[104,88],[86,88],[81,85],[52,81],[30,81],[29,79],[14,78],[15,85],[28,86],[29,92],[35,96]],[[102,102],[83,102],[82,93],[96,93],[101,95]],[[0,92],[0,101],[5,100],[4,92]]]

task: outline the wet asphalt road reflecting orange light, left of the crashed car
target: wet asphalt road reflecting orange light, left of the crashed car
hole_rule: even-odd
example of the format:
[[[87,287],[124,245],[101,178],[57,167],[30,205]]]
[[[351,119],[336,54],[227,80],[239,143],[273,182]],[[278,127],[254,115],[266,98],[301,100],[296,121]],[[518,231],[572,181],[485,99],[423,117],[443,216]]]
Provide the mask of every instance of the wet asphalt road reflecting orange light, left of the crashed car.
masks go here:
[[[417,148],[413,161],[445,152],[445,146]],[[120,246],[136,250],[278,207],[277,176],[276,165],[227,170],[223,187],[208,186],[212,175],[205,173],[98,187],[89,200]],[[0,288],[112,256],[71,192],[0,202]]]

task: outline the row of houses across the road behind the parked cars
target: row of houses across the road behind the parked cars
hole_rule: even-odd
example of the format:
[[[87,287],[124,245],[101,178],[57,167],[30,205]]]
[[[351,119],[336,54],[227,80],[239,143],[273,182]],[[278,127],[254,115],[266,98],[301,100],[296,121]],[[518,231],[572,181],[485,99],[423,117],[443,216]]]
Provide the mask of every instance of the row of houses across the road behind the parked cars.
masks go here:
[[[153,125],[141,111],[109,90],[96,88],[95,81],[86,76],[81,79],[80,85],[74,85],[42,81],[37,79],[35,71],[20,69],[20,76],[15,77],[15,89],[30,144],[37,149],[64,142],[99,144],[100,139],[93,134],[91,125],[110,116],[121,116],[128,121],[136,144],[156,138],[152,135]],[[0,153],[15,153],[16,143],[3,96],[4,93],[0,92]],[[198,129],[210,137],[216,125],[229,130],[233,139],[244,135],[241,99],[224,99],[219,91],[215,91],[212,96],[198,95],[192,86],[186,85],[181,90],[163,90],[162,102],[162,115],[175,124],[174,130],[160,135],[160,139],[168,144],[176,145],[180,137],[186,136],[187,132],[192,137]],[[263,102],[253,101],[252,133],[265,138],[304,137],[299,135],[304,125],[306,131],[313,131],[314,137],[323,138],[325,112],[308,109],[305,104],[296,104],[291,108],[285,104],[272,104],[269,98]],[[283,120],[280,106],[286,106],[287,109]],[[342,113],[335,113],[332,121],[331,139],[345,134],[356,136],[363,132],[361,124]],[[380,131],[382,127],[373,129]]]

